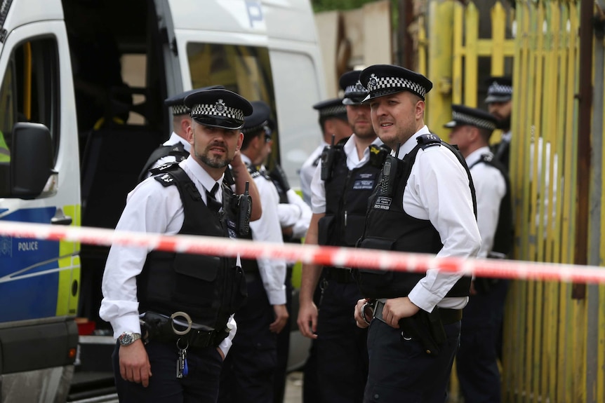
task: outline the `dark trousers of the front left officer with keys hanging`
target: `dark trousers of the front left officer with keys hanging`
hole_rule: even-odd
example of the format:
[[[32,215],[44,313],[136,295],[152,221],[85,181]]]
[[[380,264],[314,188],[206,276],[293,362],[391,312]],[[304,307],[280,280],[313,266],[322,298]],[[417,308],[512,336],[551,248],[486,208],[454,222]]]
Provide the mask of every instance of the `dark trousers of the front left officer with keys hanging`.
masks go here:
[[[112,355],[118,397],[121,403],[215,403],[222,358],[215,347],[188,348],[189,374],[176,377],[176,343],[151,341],[145,349],[152,376],[149,386],[124,381],[120,376],[119,343]]]

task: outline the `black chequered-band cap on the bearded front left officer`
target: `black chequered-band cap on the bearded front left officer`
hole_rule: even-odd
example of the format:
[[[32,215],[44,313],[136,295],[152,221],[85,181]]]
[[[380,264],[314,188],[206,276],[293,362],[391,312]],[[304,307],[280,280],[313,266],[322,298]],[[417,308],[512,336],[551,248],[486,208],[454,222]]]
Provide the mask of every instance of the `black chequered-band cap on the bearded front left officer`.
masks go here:
[[[200,125],[223,129],[241,129],[244,116],[252,114],[252,105],[246,98],[230,90],[198,90],[185,97],[185,106]]]

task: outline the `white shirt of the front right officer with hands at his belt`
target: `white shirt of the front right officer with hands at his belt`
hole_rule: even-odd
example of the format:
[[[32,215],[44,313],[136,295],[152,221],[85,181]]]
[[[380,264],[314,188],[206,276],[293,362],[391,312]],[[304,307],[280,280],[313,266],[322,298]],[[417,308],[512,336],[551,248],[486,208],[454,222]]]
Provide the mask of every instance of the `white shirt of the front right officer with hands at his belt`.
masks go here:
[[[399,149],[399,159],[418,144],[416,138],[430,134],[425,125]],[[430,220],[439,232],[443,247],[437,257],[476,257],[481,235],[475,221],[466,170],[444,146],[420,149],[404,191],[403,207],[412,217]],[[458,273],[430,268],[408,297],[416,306],[432,312],[441,308],[464,308],[468,297],[444,298],[462,277]]]

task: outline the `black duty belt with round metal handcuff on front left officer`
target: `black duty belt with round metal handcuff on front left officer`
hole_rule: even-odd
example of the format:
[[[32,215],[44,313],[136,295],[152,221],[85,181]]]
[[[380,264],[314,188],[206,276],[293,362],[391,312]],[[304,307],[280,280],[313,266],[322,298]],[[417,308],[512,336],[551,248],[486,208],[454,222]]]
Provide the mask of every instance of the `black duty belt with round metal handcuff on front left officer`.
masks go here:
[[[147,311],[140,316],[142,338],[148,341],[181,341],[190,347],[204,348],[218,346],[227,337],[227,329],[215,330],[212,327],[194,323],[185,312],[175,312],[170,316]]]

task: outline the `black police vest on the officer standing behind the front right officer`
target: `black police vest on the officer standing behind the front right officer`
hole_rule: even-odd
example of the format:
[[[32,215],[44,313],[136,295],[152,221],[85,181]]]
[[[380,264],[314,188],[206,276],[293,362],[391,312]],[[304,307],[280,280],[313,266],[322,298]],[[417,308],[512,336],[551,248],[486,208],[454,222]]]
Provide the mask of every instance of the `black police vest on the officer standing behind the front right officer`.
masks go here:
[[[368,199],[390,152],[387,146],[369,148],[368,162],[349,170],[343,146],[334,147],[331,175],[324,181],[326,214],[318,223],[319,245],[354,247],[364,233]]]

